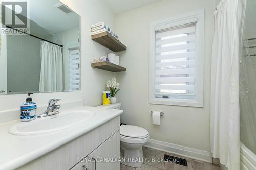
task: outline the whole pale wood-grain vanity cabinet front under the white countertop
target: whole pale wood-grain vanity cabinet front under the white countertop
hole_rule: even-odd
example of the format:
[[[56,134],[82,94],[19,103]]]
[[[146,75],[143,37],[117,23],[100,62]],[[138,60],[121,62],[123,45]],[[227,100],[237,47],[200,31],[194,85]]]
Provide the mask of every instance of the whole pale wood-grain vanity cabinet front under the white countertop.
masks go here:
[[[120,157],[120,116],[61,145],[59,148],[25,164],[22,170],[119,170],[119,162],[100,162],[99,158]],[[82,158],[97,158],[80,161]],[[86,159],[87,160],[87,159]],[[88,169],[82,167],[87,166]]]

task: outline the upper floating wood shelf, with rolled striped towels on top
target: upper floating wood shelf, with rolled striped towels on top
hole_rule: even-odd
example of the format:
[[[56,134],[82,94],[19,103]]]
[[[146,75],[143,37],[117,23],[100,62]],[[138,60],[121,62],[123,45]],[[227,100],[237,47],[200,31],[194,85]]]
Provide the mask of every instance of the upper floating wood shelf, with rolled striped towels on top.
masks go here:
[[[123,45],[119,40],[117,40],[113,35],[111,35],[107,31],[96,35],[92,35],[92,40],[109,48],[113,52],[120,52],[126,50],[126,46]]]

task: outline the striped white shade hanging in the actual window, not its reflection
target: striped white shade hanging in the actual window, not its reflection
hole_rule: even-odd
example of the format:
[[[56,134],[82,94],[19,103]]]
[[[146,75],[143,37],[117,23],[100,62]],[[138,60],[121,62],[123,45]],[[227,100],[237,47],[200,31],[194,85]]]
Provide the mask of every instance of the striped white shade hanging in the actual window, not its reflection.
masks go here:
[[[155,31],[155,97],[195,99],[196,22]]]

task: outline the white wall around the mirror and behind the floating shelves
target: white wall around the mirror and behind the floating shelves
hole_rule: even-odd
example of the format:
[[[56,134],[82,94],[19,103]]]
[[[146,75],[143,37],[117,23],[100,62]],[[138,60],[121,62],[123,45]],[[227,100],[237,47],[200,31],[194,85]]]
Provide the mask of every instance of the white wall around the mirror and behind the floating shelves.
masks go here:
[[[84,99],[85,105],[100,105],[105,82],[113,74],[108,71],[91,68],[93,57],[101,57],[110,51],[91,40],[90,25],[104,21],[114,29],[115,15],[101,0],[65,0],[62,2],[81,16],[81,91],[34,94],[32,96],[33,100],[39,105],[45,105],[50,98],[60,98],[62,101]],[[19,108],[25,99],[26,94],[1,95],[0,111]]]

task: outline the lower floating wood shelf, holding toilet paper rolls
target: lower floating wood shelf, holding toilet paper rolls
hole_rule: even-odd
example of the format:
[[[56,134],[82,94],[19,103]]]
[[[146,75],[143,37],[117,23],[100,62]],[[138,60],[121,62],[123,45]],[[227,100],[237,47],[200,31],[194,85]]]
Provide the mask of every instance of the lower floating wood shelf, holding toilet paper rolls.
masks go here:
[[[107,70],[107,71],[112,71],[112,72],[126,71],[126,68],[121,67],[121,66],[116,65],[116,64],[113,64],[113,63],[108,62],[108,61],[103,61],[103,62],[99,62],[99,63],[92,63],[92,67]]]

